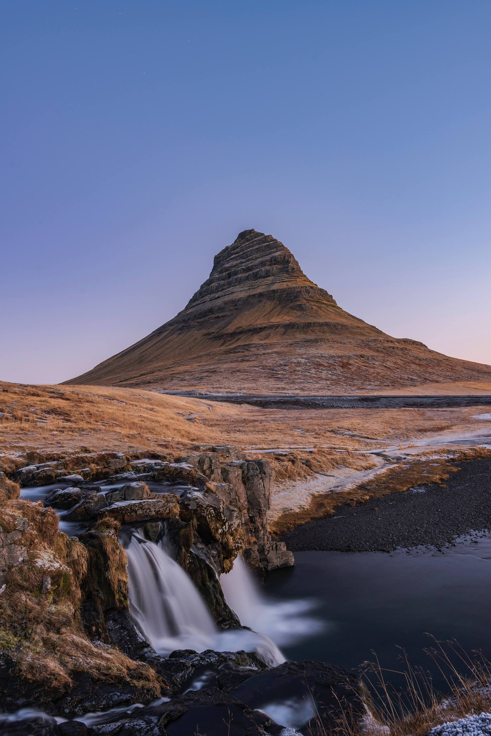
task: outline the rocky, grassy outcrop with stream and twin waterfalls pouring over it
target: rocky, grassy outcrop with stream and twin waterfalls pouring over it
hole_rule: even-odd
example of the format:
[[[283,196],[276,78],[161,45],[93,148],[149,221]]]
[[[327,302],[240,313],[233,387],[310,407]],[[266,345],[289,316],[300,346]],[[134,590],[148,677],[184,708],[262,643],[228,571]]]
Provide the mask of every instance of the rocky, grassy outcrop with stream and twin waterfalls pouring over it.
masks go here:
[[[273,481],[233,447],[0,474],[0,732],[315,735],[340,702],[361,716],[353,674],[278,648],[319,626],[308,604],[255,587],[294,563],[268,532]]]

